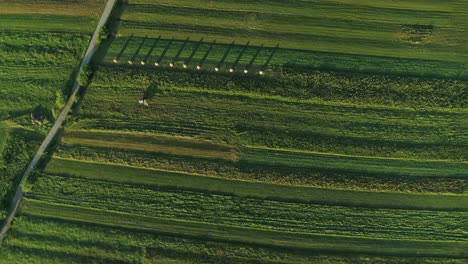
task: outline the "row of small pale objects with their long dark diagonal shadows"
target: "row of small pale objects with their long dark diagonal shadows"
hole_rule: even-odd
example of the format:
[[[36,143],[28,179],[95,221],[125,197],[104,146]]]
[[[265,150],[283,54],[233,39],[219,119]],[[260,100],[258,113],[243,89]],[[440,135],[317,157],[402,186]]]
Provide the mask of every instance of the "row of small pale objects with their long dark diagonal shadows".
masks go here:
[[[120,50],[120,52],[118,53],[117,57],[114,58],[114,63],[117,63],[121,57],[123,56],[123,54],[125,53],[125,50],[127,49],[127,47],[129,46],[130,44],[130,41],[133,39],[133,34],[127,39],[127,41],[125,42],[124,46],[122,47],[122,49]],[[128,60],[128,63],[129,64],[133,64],[133,62],[135,61],[135,59],[138,57],[139,53],[140,53],[140,50],[142,49],[142,47],[145,45],[146,41],[148,40],[148,36],[144,37],[143,40],[140,42],[140,45],[138,45],[138,48],[136,50],[136,52],[132,55],[132,57]],[[153,53],[154,49],[156,48],[156,46],[158,45],[159,41],[161,40],[161,36],[159,36],[158,38],[154,39],[153,41],[153,44],[151,45],[151,48],[149,49],[148,53],[143,57],[143,59],[141,60],[141,65],[145,65],[151,54]],[[163,58],[166,56],[166,53],[167,51],[169,50],[169,48],[171,47],[172,43],[174,42],[174,38],[170,39],[169,42],[166,44],[163,52],[161,53],[161,56],[158,57],[158,59],[155,61],[154,65],[155,66],[160,66],[161,65],[161,61],[163,60]],[[169,63],[169,67],[174,67],[175,65],[175,62],[177,61],[177,59],[180,57],[180,54],[182,54],[183,50],[185,49],[187,43],[189,42],[189,38],[187,38],[182,46],[180,47],[180,49],[177,51],[176,55],[174,58],[172,58],[171,62]],[[192,50],[192,53],[190,54],[190,56],[183,62],[183,68],[188,68],[188,66],[190,65],[190,62],[192,61],[193,57],[195,56],[195,54],[197,53],[198,49],[200,48],[200,46],[203,44],[203,38],[201,38],[198,43],[196,44],[196,46],[194,47],[194,49]],[[202,69],[203,67],[203,64],[204,62],[206,61],[206,59],[208,58],[208,55],[210,54],[211,50],[213,49],[213,46],[216,44],[216,40],[214,40],[210,46],[208,47],[208,49],[206,50],[205,54],[203,55],[202,59],[199,61],[198,65],[196,66],[197,70],[200,70]],[[242,48],[241,52],[239,53],[239,55],[237,56],[236,60],[234,61],[234,63],[231,65],[231,67],[229,68],[229,72],[233,73],[236,71],[236,67],[238,66],[242,56],[244,55],[245,51],[247,50],[247,48],[249,48],[249,44],[250,44],[250,41],[248,41]],[[226,60],[227,56],[230,54],[232,48],[234,47],[235,45],[235,41],[231,42],[231,44],[229,44],[226,48],[226,51],[224,52],[223,54],[223,57],[221,58],[221,60],[216,64],[216,66],[214,67],[214,70],[216,72],[218,72],[221,67],[223,66],[224,64],[224,61]],[[270,55],[268,56],[267,60],[265,61],[265,63],[261,66],[260,70],[258,71],[258,73],[260,75],[263,75],[264,72],[265,72],[265,69],[268,67],[268,64],[270,63],[271,59],[273,58],[273,55],[275,54],[276,50],[278,49],[279,47],[279,44],[276,45],[275,48],[273,48],[273,50],[270,52]],[[247,74],[249,72],[249,70],[252,68],[252,66],[254,65],[254,62],[255,60],[257,59],[258,55],[260,54],[260,51],[264,49],[263,45],[261,45],[260,47],[257,47],[257,50],[254,54],[254,56],[252,57],[252,59],[249,61],[249,63],[245,66],[244,68],[244,73]]]

